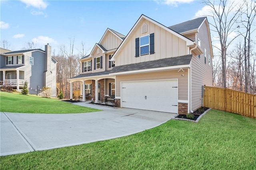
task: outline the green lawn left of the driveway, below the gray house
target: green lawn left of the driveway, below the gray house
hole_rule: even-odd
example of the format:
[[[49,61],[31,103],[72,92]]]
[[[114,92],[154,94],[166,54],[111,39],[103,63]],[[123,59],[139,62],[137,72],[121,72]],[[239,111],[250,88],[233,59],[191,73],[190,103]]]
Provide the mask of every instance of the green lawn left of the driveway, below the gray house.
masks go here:
[[[87,113],[100,111],[58,99],[0,91],[0,111],[14,113]]]

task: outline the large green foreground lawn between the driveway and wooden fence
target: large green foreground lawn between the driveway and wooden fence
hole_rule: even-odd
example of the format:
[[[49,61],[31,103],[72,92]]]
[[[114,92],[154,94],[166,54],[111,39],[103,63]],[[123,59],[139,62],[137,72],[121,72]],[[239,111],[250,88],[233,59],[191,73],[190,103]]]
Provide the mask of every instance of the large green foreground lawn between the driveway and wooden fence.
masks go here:
[[[1,157],[1,169],[237,169],[256,167],[256,120],[209,111],[112,140]]]

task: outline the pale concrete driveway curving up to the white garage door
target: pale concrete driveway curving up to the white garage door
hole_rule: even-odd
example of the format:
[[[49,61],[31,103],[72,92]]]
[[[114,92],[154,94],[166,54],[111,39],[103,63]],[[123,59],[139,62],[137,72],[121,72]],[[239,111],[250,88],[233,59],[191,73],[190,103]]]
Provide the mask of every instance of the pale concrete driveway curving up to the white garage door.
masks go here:
[[[76,105],[102,109],[93,113],[31,114],[1,112],[0,155],[48,150],[138,133],[176,114],[137,109]]]

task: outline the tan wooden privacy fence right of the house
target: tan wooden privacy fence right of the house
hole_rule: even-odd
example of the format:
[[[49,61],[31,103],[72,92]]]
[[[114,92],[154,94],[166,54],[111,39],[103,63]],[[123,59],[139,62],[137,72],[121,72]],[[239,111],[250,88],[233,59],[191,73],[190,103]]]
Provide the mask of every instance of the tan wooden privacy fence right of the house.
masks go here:
[[[256,95],[220,87],[204,88],[205,107],[256,118]]]

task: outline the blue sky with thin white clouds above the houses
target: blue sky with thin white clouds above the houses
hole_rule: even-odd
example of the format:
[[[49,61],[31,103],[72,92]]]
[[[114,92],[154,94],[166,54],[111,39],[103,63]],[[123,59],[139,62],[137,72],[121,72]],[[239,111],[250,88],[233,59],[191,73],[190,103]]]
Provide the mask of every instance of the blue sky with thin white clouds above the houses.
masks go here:
[[[92,49],[107,28],[127,35],[141,14],[172,26],[200,16],[203,7],[198,0],[1,0],[1,47],[6,40],[16,51],[34,41],[36,48],[42,49],[49,43],[57,54],[62,45],[69,46],[69,38],[74,38],[78,53],[81,42]]]

